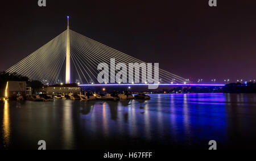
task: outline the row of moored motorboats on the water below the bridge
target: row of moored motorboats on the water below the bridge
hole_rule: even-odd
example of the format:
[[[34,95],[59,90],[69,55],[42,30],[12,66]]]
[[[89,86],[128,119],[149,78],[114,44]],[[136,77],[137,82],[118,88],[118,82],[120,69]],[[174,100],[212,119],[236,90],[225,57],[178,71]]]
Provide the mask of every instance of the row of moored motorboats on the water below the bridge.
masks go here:
[[[71,100],[82,100],[82,101],[88,101],[88,100],[130,100],[130,99],[144,99],[148,100],[150,99],[150,96],[145,94],[138,94],[138,95],[132,95],[129,91],[123,91],[123,92],[101,92],[96,93],[92,91],[86,91],[84,93],[80,94],[57,94],[57,95],[46,95],[46,94],[40,94],[33,96],[32,98],[29,98],[28,100],[32,101],[53,101],[54,99],[71,99]]]

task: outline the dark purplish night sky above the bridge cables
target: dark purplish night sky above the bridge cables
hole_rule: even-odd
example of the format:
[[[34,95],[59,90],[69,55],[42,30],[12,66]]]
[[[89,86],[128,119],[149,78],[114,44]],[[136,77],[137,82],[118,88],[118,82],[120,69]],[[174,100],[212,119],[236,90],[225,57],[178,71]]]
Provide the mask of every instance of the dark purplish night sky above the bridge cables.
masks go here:
[[[0,70],[67,28],[183,78],[256,79],[256,2],[1,2]]]

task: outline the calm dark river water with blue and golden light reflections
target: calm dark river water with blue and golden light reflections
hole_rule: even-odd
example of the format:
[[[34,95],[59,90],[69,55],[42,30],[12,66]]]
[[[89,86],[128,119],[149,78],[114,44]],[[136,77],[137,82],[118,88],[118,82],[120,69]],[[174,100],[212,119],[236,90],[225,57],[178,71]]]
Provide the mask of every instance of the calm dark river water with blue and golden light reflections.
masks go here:
[[[250,149],[256,94],[152,94],[148,101],[2,101],[0,149]]]

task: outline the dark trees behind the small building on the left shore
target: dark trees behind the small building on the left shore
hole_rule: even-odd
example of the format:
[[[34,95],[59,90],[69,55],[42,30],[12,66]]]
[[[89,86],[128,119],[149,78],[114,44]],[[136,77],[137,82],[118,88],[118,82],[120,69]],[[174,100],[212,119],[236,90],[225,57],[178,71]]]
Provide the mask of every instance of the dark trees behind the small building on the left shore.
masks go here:
[[[38,92],[43,87],[43,83],[40,81],[31,81],[28,77],[24,77],[23,75],[2,71],[0,72],[0,95],[3,95],[8,81],[25,81],[27,86],[32,88],[33,92]]]

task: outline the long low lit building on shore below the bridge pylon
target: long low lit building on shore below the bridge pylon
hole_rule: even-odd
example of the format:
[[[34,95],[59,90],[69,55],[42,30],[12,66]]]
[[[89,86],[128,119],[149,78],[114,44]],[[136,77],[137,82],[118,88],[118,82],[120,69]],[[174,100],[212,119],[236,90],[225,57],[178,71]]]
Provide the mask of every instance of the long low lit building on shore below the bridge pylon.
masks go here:
[[[69,94],[69,93],[80,93],[81,88],[77,86],[76,83],[74,84],[55,84],[52,86],[44,86],[43,92],[46,94]]]

